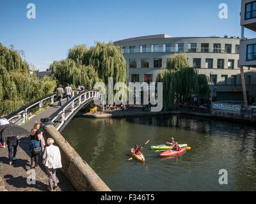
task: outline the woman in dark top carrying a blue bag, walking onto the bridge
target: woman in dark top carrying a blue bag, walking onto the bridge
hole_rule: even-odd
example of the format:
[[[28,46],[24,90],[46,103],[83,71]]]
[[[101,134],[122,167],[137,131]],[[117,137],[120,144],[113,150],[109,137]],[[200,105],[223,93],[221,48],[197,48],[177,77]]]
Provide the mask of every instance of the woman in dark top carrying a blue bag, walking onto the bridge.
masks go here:
[[[30,152],[31,152],[31,169],[38,167],[39,156],[42,151],[39,147],[41,147],[40,140],[41,140],[41,131],[40,131],[40,124],[35,122],[34,128],[31,129],[31,142],[30,142]],[[34,165],[35,163],[35,165]]]

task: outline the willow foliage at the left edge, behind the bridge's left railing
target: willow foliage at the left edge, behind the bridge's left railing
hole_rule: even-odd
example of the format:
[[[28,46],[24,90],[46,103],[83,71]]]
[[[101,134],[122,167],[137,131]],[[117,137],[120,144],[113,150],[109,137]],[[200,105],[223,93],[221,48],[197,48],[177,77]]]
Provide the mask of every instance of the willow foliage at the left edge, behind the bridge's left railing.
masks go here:
[[[19,52],[0,43],[0,114],[7,115],[18,108],[51,94],[56,80],[44,77],[40,80],[29,73],[29,64]]]

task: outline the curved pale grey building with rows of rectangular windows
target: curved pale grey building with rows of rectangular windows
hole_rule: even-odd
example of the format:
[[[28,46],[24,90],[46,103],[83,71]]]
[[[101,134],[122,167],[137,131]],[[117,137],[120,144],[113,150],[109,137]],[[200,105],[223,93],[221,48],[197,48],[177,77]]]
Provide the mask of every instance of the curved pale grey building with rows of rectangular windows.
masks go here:
[[[129,68],[128,82],[155,82],[159,71],[166,68],[167,59],[185,52],[189,66],[208,77],[212,74],[212,95],[216,101],[243,101],[239,38],[173,38],[167,34],[157,34],[115,41],[114,44],[122,47]],[[247,68],[244,75],[248,97],[255,97],[256,91],[250,91],[250,86],[256,84],[255,72]]]

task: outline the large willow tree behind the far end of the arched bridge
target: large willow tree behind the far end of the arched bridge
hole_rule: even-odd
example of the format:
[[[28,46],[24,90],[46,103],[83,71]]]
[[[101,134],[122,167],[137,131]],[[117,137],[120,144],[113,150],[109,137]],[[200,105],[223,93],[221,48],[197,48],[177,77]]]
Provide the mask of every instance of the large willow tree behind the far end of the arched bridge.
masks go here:
[[[68,50],[67,59],[52,62],[50,70],[62,84],[83,84],[85,89],[92,89],[96,82],[108,85],[108,77],[113,77],[114,84],[126,84],[127,78],[122,50],[112,42],[97,42],[89,50],[85,45],[76,45]]]

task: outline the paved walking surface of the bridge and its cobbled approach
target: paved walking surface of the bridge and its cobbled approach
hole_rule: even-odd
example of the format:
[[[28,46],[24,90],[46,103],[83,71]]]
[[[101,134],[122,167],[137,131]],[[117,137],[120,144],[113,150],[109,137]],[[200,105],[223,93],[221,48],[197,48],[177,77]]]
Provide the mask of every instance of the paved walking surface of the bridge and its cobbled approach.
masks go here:
[[[62,101],[65,103],[65,100]],[[40,122],[41,118],[49,117],[52,113],[56,112],[58,107],[51,106],[32,117],[22,127],[30,131],[33,128],[35,121]],[[36,184],[27,184],[27,178],[29,174],[26,174],[30,170],[30,151],[29,151],[29,137],[23,137],[20,139],[19,147],[17,148],[16,161],[11,165],[8,164],[8,149],[0,149],[0,191],[6,189],[7,191],[47,191],[48,179],[45,170],[45,166],[42,164],[42,157],[40,158],[39,168],[35,169],[36,172]],[[65,178],[65,175],[60,170],[57,170],[57,177],[60,180],[58,184],[59,188],[56,191],[75,191],[74,187]]]

